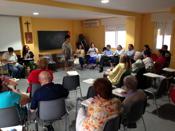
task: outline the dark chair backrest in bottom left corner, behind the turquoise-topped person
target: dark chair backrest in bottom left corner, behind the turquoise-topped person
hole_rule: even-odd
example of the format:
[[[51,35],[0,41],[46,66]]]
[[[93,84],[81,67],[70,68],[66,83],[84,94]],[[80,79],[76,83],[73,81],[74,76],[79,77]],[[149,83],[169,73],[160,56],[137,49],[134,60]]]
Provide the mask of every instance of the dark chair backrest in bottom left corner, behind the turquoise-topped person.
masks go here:
[[[16,107],[0,109],[0,128],[20,125],[20,116]]]

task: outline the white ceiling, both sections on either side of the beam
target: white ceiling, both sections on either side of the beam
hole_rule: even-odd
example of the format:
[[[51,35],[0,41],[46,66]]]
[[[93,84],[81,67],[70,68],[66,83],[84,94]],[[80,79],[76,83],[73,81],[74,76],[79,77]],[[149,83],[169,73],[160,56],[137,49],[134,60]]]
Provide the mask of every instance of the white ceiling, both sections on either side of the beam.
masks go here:
[[[175,6],[175,0],[110,0],[108,4],[101,4],[100,0],[51,0],[53,2],[68,2],[80,5],[109,8],[115,10],[132,11],[138,13],[165,11]],[[39,12],[39,16],[33,16],[33,12]],[[43,18],[63,19],[99,19],[121,17],[121,15],[93,12],[90,10],[78,10],[73,8],[61,8],[41,4],[30,4],[0,0],[0,15],[32,16]]]

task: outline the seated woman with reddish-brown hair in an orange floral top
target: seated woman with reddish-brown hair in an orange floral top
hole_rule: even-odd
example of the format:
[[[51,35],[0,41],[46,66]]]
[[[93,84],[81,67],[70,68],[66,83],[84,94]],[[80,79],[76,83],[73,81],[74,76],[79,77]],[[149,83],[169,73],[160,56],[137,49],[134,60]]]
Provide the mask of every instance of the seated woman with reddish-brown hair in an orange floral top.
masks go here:
[[[121,102],[112,98],[112,84],[105,78],[97,79],[93,88],[97,94],[88,106],[87,112],[80,108],[76,131],[102,131],[104,123],[114,115],[120,114]]]

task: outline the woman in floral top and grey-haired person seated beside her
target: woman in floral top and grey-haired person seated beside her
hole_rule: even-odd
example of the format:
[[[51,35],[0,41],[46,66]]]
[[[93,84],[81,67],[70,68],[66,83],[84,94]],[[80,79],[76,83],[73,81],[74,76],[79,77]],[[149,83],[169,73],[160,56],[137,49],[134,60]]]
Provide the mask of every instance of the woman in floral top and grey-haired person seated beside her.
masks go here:
[[[112,95],[112,84],[106,78],[98,78],[91,87],[95,96],[87,109],[80,108],[76,119],[76,131],[103,131],[105,122],[111,117],[129,112],[131,103],[144,102],[146,95],[137,90],[135,76],[124,79],[126,97],[123,101]]]

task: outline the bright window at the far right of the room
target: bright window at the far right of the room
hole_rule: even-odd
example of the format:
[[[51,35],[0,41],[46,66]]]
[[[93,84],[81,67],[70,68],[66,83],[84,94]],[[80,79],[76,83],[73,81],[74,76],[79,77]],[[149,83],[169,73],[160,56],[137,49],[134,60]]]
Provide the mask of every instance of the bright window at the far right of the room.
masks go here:
[[[158,28],[156,38],[156,49],[161,49],[162,45],[167,45],[168,50],[170,50],[171,35],[169,33],[164,33],[164,31],[161,28]]]

